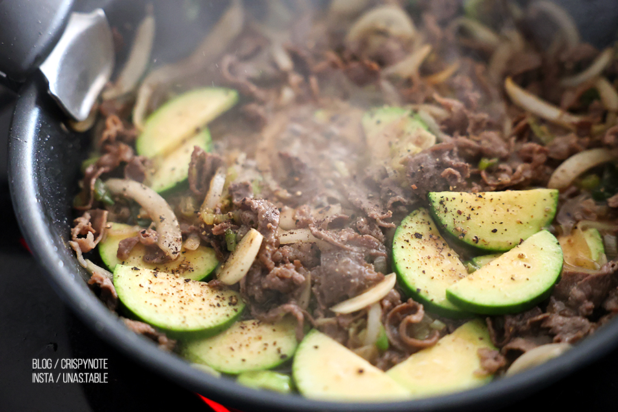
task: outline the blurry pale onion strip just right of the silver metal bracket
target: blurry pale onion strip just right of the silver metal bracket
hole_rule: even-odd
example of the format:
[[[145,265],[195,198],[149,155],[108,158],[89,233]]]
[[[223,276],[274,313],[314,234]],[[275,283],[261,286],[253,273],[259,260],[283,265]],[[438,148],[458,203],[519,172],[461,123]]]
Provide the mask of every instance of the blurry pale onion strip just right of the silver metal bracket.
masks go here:
[[[155,16],[148,14],[137,28],[128,59],[116,82],[112,87],[103,91],[104,100],[117,98],[135,89],[137,82],[141,76],[144,76],[146,67],[148,67],[153,43],[155,43]]]

